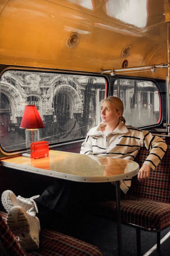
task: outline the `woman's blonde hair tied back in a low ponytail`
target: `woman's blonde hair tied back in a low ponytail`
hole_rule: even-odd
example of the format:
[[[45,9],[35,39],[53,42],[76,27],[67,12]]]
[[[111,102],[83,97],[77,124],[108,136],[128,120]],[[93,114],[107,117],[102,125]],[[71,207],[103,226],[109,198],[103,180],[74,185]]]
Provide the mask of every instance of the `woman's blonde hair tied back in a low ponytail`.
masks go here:
[[[124,111],[124,107],[123,107],[123,102],[121,101],[121,99],[119,99],[118,97],[115,96],[109,96],[108,98],[102,100],[100,102],[100,106],[102,105],[103,102],[106,102],[108,104],[109,109],[114,113],[114,109],[113,106],[116,108],[116,111],[120,111],[121,112],[121,116],[119,117],[119,120],[125,124],[126,120],[124,119],[123,115],[123,111]]]

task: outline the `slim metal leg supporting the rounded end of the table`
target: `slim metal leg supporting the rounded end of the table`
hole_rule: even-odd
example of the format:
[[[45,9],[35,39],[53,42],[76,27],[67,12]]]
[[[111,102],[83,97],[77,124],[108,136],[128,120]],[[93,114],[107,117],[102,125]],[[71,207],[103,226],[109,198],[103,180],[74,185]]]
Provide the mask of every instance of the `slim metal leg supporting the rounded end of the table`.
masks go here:
[[[117,213],[117,243],[118,243],[118,255],[123,255],[122,250],[122,227],[121,227],[121,215],[120,215],[120,181],[116,181],[116,213]]]

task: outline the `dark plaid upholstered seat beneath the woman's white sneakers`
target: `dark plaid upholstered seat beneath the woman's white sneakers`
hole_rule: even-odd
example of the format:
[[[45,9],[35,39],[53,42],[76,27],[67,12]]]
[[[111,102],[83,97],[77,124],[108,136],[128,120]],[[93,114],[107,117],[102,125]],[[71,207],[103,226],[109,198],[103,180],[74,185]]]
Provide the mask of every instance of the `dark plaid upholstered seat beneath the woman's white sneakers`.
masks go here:
[[[86,242],[52,230],[42,230],[39,235],[40,248],[36,252],[23,251],[18,240],[6,225],[6,213],[0,212],[0,245],[2,255],[12,256],[101,256],[100,250]]]

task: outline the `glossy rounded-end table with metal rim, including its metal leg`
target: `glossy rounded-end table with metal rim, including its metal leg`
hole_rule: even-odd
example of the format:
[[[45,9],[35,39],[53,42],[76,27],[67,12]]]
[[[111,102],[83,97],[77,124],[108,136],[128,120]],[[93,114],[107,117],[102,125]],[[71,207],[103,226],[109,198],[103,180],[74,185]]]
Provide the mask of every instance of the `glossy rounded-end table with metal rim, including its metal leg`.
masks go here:
[[[82,155],[50,150],[49,156],[37,159],[13,157],[1,160],[2,166],[78,182],[115,182],[117,202],[118,255],[122,255],[120,180],[139,171],[138,163],[103,156]]]

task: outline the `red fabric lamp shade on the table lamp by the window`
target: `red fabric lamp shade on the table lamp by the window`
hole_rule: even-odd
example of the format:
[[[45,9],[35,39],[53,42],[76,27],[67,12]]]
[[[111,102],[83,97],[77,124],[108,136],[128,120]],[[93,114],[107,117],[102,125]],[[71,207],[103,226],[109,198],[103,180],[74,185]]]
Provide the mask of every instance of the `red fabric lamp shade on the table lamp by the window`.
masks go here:
[[[25,106],[20,128],[24,129],[36,129],[44,128],[45,125],[41,120],[38,110],[35,105]]]

